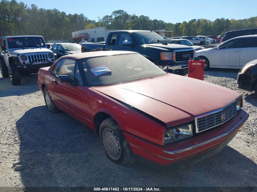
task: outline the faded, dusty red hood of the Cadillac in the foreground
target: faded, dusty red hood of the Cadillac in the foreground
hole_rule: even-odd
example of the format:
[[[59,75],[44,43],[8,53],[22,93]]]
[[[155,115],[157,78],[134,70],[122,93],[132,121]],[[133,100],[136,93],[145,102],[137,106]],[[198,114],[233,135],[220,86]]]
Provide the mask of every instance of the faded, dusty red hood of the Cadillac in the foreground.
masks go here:
[[[193,120],[241,97],[230,89],[175,74],[92,88],[165,123]]]

